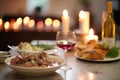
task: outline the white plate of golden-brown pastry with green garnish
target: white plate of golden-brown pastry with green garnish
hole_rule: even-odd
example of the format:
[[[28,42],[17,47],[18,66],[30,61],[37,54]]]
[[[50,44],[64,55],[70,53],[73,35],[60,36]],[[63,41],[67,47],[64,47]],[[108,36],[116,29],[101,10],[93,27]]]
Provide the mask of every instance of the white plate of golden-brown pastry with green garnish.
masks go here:
[[[104,48],[102,44],[97,43],[95,40],[91,40],[87,44],[78,43],[75,56],[78,59],[93,62],[120,60],[119,48]]]

